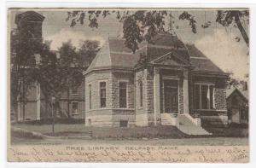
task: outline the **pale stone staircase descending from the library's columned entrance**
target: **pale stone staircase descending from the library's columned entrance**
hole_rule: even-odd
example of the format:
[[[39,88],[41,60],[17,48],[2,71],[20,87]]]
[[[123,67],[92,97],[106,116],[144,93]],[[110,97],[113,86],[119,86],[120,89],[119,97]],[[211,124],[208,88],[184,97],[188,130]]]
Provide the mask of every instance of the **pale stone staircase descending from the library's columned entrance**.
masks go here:
[[[177,128],[188,135],[212,135],[211,133],[207,132],[207,130],[203,129],[201,125],[195,125],[195,123],[192,122],[187,115],[178,115]]]

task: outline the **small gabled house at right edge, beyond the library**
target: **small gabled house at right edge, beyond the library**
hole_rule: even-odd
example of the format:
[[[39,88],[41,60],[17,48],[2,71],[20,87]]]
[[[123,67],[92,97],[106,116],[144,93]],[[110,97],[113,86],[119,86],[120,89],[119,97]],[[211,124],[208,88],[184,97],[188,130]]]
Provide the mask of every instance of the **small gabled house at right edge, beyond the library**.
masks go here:
[[[227,90],[227,108],[230,124],[248,124],[247,83],[240,89],[231,88]]]

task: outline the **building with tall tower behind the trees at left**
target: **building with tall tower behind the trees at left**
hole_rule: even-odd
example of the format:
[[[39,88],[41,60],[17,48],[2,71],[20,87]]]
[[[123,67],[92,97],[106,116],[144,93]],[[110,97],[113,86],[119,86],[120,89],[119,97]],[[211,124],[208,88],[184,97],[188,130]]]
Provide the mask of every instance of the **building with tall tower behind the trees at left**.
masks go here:
[[[42,39],[42,25],[44,16],[34,11],[27,11],[15,16],[16,29],[13,33],[31,33],[33,38]],[[29,30],[29,32],[27,32]],[[32,55],[32,61],[27,62],[28,67],[34,66],[40,55]],[[28,69],[27,69],[28,70]],[[22,92],[25,92],[22,90]],[[24,96],[24,97],[22,97]],[[59,118],[84,119],[84,84],[78,88],[71,88],[61,94],[61,99],[56,104],[56,116]],[[68,116],[69,115],[69,116]],[[20,94],[18,101],[18,120],[51,119],[51,108],[45,104],[44,95],[40,84],[33,84],[31,90]]]

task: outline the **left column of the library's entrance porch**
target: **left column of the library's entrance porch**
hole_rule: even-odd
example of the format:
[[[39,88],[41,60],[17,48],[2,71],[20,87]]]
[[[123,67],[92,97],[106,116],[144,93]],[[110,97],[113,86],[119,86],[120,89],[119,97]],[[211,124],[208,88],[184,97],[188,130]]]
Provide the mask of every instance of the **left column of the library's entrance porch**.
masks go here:
[[[160,113],[160,71],[154,67],[154,125],[157,125],[157,115]]]

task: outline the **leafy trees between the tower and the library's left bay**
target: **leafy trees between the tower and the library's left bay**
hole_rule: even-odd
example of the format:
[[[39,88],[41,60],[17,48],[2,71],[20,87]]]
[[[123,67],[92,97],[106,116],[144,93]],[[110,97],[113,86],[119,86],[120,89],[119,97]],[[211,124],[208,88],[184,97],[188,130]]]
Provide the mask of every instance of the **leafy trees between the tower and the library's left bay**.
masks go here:
[[[44,43],[40,52],[41,61],[37,64],[33,78],[38,81],[46,101],[46,109],[49,106],[51,97],[55,97],[56,104],[61,99],[63,93],[71,89],[78,88],[83,82],[83,71],[86,69],[87,61],[93,59],[99,48],[97,41],[84,41],[81,48],[77,50],[71,41],[62,43],[57,53],[50,51],[49,46]],[[69,101],[67,101],[67,117],[69,116]],[[56,107],[61,111],[61,107]],[[46,112],[45,116],[50,117]]]

